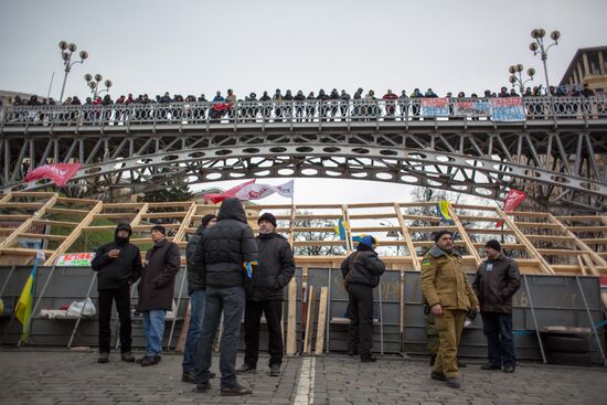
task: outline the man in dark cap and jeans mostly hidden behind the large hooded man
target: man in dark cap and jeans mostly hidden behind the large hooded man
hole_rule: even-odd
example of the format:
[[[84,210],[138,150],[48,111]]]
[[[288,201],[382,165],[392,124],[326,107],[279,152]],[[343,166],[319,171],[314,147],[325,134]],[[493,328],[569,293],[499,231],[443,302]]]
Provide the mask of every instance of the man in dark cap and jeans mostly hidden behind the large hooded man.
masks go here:
[[[185,262],[188,263],[188,295],[190,296],[190,326],[188,327],[188,337],[185,338],[185,347],[183,349],[183,374],[181,381],[184,383],[195,384],[194,376],[194,360],[196,348],[202,328],[202,316],[204,313],[206,280],[201,271],[192,264],[198,244],[202,236],[202,232],[217,223],[217,217],[213,214],[206,214],[202,217],[201,224],[196,233],[190,237],[185,246]]]

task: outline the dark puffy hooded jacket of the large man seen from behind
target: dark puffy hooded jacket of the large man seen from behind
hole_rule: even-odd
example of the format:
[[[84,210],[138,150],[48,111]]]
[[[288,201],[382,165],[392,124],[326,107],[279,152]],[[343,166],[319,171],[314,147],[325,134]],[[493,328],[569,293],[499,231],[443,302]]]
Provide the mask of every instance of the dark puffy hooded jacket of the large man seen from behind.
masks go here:
[[[245,262],[256,262],[257,244],[238,199],[226,199],[220,207],[217,224],[202,232],[192,257],[192,267],[215,288],[244,284]]]

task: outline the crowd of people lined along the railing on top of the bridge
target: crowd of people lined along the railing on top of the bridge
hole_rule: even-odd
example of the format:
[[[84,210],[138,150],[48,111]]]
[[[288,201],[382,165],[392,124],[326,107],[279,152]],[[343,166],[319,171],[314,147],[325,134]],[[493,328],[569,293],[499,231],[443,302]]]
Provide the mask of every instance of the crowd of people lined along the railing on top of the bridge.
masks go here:
[[[593,97],[595,93],[585,85],[583,88],[567,86],[551,86],[547,92],[554,97]],[[297,122],[313,120],[343,120],[350,117],[353,120],[373,120],[383,118],[384,120],[394,119],[418,119],[423,114],[420,99],[444,97],[447,99],[487,99],[487,98],[508,98],[508,97],[541,97],[545,96],[542,86],[528,87],[522,95],[514,88],[508,90],[507,87],[496,93],[490,89],[478,94],[466,94],[465,92],[447,93],[439,96],[432,88],[425,92],[415,88],[411,94],[402,90],[401,94],[387,89],[383,96],[375,95],[373,89],[364,92],[358,88],[351,96],[345,89],[339,92],[333,88],[331,92],[320,89],[318,94],[303,90],[291,92],[287,89],[283,93],[279,88],[270,96],[268,92],[263,92],[260,96],[256,93],[249,93],[244,98],[238,97],[233,89],[227,89],[226,94],[216,92],[207,99],[204,94],[200,96],[188,95],[183,97],[180,94],[171,96],[166,92],[162,96],[157,95],[150,98],[147,94],[139,94],[135,97],[132,94],[121,95],[113,99],[109,94],[105,96],[86,97],[84,103],[77,97],[67,97],[61,106],[86,107],[71,108],[68,111],[52,111],[52,108],[36,108],[28,110],[26,108],[7,111],[3,120],[11,122],[34,122],[45,125],[52,121],[67,122],[74,121],[89,122],[93,125],[104,122],[106,125],[124,125],[127,121],[153,121],[163,122],[221,122],[227,118],[228,121],[257,121],[270,119],[274,122],[284,120],[295,120]],[[53,98],[40,98],[31,96],[30,99],[22,99],[15,96],[9,100],[10,106],[25,107],[49,107],[56,106]],[[236,109],[237,106],[237,109]],[[546,114],[547,105],[537,103],[528,107],[528,115],[534,117]],[[578,111],[575,103],[569,110],[564,105],[555,106],[556,113],[561,115]],[[452,105],[449,107],[450,115],[454,113]],[[455,117],[454,117],[455,118]],[[472,117],[471,119],[478,119]]]

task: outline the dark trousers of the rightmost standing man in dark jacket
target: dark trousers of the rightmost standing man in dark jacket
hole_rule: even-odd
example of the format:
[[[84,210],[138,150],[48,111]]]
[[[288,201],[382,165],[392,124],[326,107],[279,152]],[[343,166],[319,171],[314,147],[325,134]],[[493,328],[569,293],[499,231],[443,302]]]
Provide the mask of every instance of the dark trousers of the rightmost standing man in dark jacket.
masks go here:
[[[514,339],[512,338],[512,315],[482,312],[482,331],[487,338],[491,364],[517,365]]]

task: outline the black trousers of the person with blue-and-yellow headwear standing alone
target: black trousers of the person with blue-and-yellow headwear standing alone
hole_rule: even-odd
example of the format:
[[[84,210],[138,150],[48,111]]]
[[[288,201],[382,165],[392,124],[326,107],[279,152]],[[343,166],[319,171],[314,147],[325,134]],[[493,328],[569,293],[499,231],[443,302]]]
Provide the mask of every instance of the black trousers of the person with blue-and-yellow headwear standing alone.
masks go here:
[[[350,299],[350,334],[348,351],[359,352],[361,359],[371,358],[371,328],[373,327],[373,287],[363,284],[348,286]]]

